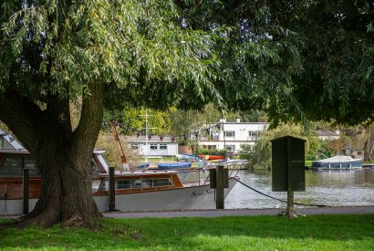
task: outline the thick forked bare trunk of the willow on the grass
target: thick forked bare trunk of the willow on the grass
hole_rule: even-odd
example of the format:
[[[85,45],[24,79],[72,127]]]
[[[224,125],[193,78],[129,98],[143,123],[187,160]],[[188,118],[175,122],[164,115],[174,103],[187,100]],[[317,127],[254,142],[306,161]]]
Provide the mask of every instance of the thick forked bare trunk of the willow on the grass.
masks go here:
[[[35,156],[42,176],[36,207],[19,225],[85,225],[101,217],[92,197],[89,163],[102,121],[103,89],[88,84],[88,91],[75,131],[68,99],[50,96],[42,110],[16,93],[0,95],[6,104],[0,119]]]

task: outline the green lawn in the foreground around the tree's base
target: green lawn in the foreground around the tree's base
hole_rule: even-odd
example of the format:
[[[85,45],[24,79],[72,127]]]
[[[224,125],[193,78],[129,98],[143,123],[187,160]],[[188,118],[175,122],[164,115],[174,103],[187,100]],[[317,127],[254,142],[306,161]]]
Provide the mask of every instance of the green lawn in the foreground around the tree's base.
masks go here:
[[[0,250],[374,250],[373,230],[374,214],[107,218],[90,229],[3,229]]]

